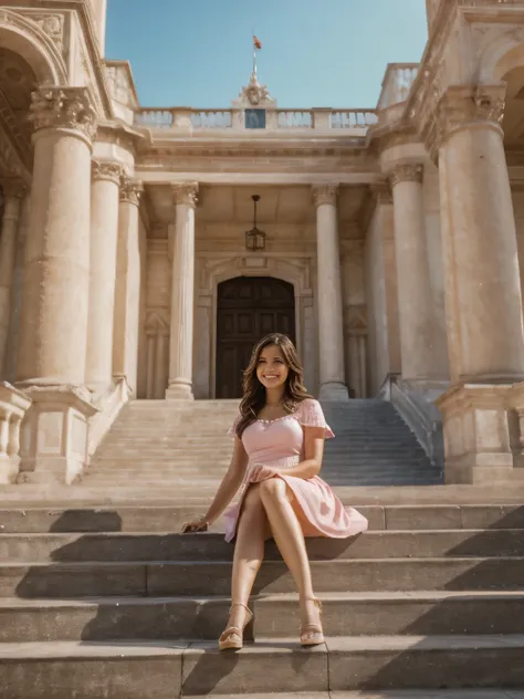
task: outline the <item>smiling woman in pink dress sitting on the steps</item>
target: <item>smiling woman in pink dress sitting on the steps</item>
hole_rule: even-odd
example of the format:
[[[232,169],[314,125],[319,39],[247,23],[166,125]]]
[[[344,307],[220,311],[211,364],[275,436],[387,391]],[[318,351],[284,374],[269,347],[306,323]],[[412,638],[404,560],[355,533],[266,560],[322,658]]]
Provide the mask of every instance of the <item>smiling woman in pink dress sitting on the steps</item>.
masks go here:
[[[221,650],[239,649],[253,615],[251,590],[273,538],[298,588],[301,645],[324,643],[322,605],[313,592],[304,536],[354,536],[367,520],[345,509],[318,473],[324,440],[334,437],[322,407],[303,386],[303,369],[289,337],[273,334],[253,349],[244,373],[240,414],[231,427],[234,450],[207,514],[188,522],[182,532],[207,531],[224,513],[226,540],[235,540],[231,609],[220,636]]]

